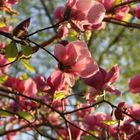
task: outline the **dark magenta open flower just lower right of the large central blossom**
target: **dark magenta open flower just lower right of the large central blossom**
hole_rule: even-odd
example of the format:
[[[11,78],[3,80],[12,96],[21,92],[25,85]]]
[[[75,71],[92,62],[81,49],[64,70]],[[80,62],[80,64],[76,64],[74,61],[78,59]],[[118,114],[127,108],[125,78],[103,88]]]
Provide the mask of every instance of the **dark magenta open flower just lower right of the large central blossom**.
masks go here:
[[[112,85],[119,78],[119,67],[115,65],[109,72],[106,72],[104,69],[100,68],[99,71],[89,77],[83,78],[84,82],[93,87],[97,94],[102,93],[103,90],[109,91],[111,93],[115,93],[116,95],[120,95],[120,91],[115,89]]]

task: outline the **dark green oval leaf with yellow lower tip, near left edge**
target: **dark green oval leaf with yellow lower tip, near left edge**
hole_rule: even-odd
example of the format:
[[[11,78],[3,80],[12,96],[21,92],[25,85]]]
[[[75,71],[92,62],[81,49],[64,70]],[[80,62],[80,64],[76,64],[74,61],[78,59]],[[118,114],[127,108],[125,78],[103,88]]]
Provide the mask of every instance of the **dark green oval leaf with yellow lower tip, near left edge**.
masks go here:
[[[6,47],[6,57],[10,59],[10,61],[15,60],[18,55],[18,49],[15,42],[11,42]]]

